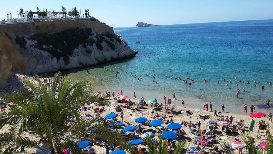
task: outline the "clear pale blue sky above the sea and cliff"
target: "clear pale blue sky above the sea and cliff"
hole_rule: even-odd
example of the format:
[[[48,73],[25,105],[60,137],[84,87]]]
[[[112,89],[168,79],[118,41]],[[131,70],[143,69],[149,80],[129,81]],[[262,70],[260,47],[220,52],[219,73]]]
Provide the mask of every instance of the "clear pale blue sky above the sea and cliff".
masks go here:
[[[0,19],[7,13],[36,11],[36,7],[56,12],[65,6],[89,9],[90,15],[113,27],[136,26],[138,21],[170,25],[197,22],[273,19],[273,0],[0,0]],[[80,10],[79,10],[80,11]]]

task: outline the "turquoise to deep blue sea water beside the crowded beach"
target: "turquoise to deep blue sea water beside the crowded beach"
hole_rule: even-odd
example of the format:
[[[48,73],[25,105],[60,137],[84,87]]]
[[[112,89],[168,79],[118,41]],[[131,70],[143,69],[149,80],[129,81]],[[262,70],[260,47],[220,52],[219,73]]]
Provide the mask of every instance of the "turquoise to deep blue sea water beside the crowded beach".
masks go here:
[[[255,104],[256,111],[272,111],[265,101],[267,98],[273,101],[273,86],[266,83],[273,82],[273,20],[126,27],[114,31],[122,34],[139,54],[128,60],[73,70],[76,72],[73,76],[87,77],[89,70],[89,77],[96,74],[95,88],[116,94],[123,90],[130,98],[136,91],[138,98],[163,101],[164,95],[172,98],[175,92],[176,104],[183,99],[192,108],[202,108],[208,101],[218,110],[225,104],[230,112],[243,112],[244,104]],[[136,43],[137,38],[140,43]],[[116,78],[110,69],[120,72],[120,68],[122,74]],[[142,77],[140,81],[131,77],[134,71],[137,77]],[[174,80],[176,76],[181,80]],[[194,79],[191,86],[183,84],[187,77]],[[235,77],[244,83],[237,86]],[[221,79],[231,79],[232,83]],[[260,81],[257,87],[253,86],[254,80]],[[261,90],[262,84],[265,90]],[[236,98],[238,88],[241,93]]]

